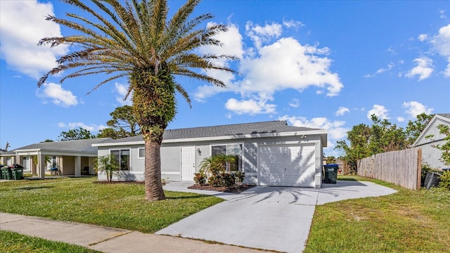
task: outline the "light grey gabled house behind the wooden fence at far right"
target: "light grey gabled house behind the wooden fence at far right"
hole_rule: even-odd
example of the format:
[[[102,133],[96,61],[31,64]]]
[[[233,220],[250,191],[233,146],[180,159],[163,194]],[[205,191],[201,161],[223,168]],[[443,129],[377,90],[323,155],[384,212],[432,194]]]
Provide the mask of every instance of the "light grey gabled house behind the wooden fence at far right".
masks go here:
[[[439,124],[450,126],[450,113],[437,114],[432,117],[412,147],[422,149],[422,162],[427,162],[435,169],[447,169],[449,165],[440,160],[442,151],[436,148],[436,145],[445,143],[445,135],[439,134],[439,129],[437,129]]]

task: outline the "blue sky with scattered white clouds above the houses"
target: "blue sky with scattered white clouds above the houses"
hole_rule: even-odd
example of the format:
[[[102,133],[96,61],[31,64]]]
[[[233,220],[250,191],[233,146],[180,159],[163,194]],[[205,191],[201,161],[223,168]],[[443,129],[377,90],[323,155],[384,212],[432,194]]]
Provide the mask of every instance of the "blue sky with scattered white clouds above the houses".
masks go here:
[[[183,1],[169,1],[173,12]],[[59,84],[37,79],[70,46],[37,46],[71,34],[46,21],[78,12],[60,1],[0,1],[0,147],[10,150],[79,126],[97,134],[125,105],[126,79],[86,95],[103,79]],[[178,78],[192,109],[179,98],[169,129],[269,120],[328,130],[326,155],[371,114],[399,126],[421,112],[450,112],[449,1],[205,0],[195,14],[229,26],[221,48],[240,60],[222,62],[240,74],[210,72],[228,89]],[[207,24],[204,24],[205,26]]]

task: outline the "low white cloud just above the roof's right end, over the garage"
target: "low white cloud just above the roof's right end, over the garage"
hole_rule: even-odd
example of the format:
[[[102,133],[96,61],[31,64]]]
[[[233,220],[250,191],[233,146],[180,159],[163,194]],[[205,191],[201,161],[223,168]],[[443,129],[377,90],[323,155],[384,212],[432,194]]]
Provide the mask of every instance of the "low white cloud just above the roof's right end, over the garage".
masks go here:
[[[347,136],[347,131],[349,131],[349,129],[344,127],[345,122],[339,120],[332,122],[326,117],[307,119],[306,117],[289,117],[288,115],[285,115],[283,117],[279,117],[278,120],[286,120],[293,126],[326,129],[328,132],[328,139],[330,139],[330,141],[337,141],[345,138]]]

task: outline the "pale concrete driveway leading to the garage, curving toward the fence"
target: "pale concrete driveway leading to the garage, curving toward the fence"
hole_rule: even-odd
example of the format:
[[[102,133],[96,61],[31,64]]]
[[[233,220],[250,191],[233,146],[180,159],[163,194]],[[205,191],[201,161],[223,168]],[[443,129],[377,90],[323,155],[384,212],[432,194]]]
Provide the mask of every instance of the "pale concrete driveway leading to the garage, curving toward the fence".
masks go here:
[[[169,183],[167,190],[176,188],[173,186]],[[323,184],[320,189],[257,186],[239,195],[226,195],[226,201],[188,216],[157,234],[302,252],[316,205],[395,192],[364,181],[338,181]]]

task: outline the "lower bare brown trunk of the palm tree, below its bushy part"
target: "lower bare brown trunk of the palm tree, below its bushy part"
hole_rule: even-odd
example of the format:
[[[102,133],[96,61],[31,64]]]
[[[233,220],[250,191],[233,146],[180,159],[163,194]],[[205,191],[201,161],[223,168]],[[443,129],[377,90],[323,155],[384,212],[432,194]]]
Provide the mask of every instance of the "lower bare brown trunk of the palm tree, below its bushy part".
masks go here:
[[[161,183],[161,144],[144,138],[146,145],[146,200],[164,200],[164,190]]]

